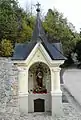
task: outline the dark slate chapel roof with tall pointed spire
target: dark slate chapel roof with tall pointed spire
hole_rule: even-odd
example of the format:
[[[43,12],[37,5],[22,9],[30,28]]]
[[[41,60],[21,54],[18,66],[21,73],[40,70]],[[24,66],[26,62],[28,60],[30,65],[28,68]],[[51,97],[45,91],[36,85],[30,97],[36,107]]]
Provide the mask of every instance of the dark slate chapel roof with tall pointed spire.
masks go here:
[[[45,35],[42,22],[40,20],[40,9],[37,8],[37,19],[33,31],[31,42],[24,44],[16,44],[12,60],[25,60],[31,53],[35,45],[40,41],[46,49],[52,60],[65,60],[61,43],[49,43]]]

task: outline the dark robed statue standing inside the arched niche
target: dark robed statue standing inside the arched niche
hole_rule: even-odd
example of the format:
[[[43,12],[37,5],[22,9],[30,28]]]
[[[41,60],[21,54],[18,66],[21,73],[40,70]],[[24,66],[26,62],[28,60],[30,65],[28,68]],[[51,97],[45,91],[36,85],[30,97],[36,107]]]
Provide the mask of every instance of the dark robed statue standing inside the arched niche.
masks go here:
[[[38,67],[36,71],[36,81],[37,86],[43,87],[43,72],[40,67]]]

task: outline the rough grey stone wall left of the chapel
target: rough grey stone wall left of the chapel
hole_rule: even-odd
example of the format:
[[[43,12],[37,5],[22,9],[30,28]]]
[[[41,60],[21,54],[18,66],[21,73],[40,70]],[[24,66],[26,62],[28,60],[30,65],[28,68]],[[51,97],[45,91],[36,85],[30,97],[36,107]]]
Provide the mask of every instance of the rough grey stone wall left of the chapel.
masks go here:
[[[0,57],[0,109],[17,95],[17,72],[11,58]]]

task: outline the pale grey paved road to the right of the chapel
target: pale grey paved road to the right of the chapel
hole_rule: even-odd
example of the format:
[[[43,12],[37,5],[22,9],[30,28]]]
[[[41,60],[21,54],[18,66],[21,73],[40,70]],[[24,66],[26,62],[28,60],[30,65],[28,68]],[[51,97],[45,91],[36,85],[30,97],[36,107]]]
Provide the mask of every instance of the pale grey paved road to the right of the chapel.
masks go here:
[[[81,69],[67,69],[63,74],[64,85],[81,105]]]

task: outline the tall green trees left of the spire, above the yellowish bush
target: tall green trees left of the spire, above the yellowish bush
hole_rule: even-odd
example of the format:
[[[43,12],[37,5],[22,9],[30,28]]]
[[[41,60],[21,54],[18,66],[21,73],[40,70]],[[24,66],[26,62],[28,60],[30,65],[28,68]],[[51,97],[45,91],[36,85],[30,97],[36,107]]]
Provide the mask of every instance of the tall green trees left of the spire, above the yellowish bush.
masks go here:
[[[34,17],[18,6],[17,0],[0,0],[0,40],[15,42],[30,40]]]

